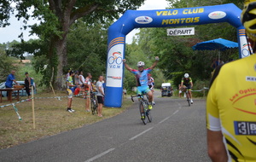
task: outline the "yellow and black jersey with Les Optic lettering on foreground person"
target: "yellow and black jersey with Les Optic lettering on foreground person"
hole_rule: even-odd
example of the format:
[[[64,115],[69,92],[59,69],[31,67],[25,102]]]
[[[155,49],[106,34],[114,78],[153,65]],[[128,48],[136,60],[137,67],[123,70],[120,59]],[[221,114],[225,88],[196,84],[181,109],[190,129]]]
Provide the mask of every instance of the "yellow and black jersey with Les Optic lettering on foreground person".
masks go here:
[[[256,161],[256,55],[214,72],[207,95],[207,129],[222,131],[229,161]]]

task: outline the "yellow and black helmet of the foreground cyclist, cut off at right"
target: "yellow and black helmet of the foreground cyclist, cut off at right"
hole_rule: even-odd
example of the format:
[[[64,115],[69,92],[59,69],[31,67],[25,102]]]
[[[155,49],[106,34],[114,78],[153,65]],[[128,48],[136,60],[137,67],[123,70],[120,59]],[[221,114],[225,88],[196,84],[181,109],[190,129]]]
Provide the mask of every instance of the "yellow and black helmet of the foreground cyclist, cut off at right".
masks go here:
[[[246,28],[247,37],[256,41],[256,2],[247,0],[241,12],[241,23]]]

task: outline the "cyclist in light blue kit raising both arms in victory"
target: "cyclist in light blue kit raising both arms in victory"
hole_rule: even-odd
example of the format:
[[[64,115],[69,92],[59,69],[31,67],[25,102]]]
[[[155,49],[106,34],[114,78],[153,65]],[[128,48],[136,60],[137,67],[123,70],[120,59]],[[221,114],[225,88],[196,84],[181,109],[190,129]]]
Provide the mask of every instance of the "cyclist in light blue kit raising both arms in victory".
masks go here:
[[[152,94],[152,91],[149,90],[149,88],[148,88],[148,73],[154,69],[154,67],[157,65],[158,61],[159,61],[159,57],[156,56],[153,65],[146,69],[144,68],[145,63],[143,61],[139,61],[139,62],[137,62],[138,70],[135,70],[126,64],[125,59],[123,60],[123,62],[125,64],[125,68],[135,74],[135,77],[137,80],[137,95],[138,94],[142,95],[144,93],[148,94],[148,101],[149,101],[148,109],[149,110],[152,109],[153,94]]]

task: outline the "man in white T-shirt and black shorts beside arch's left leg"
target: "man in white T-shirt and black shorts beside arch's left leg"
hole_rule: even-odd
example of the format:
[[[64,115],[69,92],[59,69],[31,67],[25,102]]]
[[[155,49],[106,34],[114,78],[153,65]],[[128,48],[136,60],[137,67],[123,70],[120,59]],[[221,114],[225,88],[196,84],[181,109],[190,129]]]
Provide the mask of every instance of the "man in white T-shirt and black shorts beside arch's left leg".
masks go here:
[[[102,85],[102,80],[103,80],[103,76],[101,75],[99,77],[99,80],[96,83],[96,90],[97,90],[97,101],[98,101],[98,116],[102,117],[102,107],[103,107],[103,103],[104,103],[104,89],[103,89],[103,85]]]

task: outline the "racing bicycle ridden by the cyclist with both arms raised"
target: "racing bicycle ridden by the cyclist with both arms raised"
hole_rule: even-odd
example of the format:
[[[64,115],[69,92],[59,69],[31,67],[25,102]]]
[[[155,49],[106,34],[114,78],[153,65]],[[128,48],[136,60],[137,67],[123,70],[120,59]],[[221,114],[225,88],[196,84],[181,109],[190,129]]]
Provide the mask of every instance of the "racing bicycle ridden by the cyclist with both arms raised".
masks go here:
[[[143,120],[143,124],[147,124],[148,122],[152,122],[152,116],[150,110],[148,109],[148,95],[146,95],[146,98],[144,97],[144,95],[146,94],[133,96],[131,95],[131,101],[134,102],[134,97],[139,98],[139,110],[141,114],[141,119]]]

